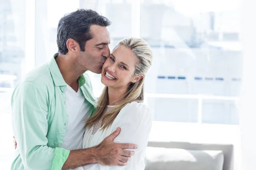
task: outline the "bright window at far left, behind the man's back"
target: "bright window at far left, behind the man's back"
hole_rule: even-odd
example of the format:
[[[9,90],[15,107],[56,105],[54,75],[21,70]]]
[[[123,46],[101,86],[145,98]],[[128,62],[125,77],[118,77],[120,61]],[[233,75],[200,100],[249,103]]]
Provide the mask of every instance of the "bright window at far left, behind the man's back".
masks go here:
[[[24,0],[0,1],[0,164],[9,169],[12,145],[11,95],[25,72],[26,3]],[[4,130],[5,129],[5,130]]]

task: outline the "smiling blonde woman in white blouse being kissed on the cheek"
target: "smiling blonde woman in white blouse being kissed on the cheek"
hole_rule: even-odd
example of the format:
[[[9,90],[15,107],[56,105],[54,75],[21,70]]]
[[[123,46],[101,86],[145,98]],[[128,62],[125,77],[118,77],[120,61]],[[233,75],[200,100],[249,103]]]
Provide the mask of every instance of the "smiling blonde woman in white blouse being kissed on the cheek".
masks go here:
[[[83,148],[98,145],[117,127],[121,127],[114,142],[137,144],[138,149],[124,167],[96,163],[84,165],[84,170],[144,170],[151,114],[142,102],[145,74],[151,63],[151,48],[140,38],[121,40],[105,61],[101,77],[105,88],[99,97],[96,112],[86,120]]]

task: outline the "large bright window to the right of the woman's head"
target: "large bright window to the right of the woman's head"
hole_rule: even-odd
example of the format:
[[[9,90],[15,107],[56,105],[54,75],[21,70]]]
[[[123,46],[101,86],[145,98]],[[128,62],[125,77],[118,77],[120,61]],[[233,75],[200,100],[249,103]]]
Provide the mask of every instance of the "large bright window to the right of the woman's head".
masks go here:
[[[154,51],[145,84],[148,106],[156,121],[238,125],[239,8],[202,11],[195,2],[189,9],[185,3],[140,4],[141,37]],[[201,5],[205,10],[207,4]]]

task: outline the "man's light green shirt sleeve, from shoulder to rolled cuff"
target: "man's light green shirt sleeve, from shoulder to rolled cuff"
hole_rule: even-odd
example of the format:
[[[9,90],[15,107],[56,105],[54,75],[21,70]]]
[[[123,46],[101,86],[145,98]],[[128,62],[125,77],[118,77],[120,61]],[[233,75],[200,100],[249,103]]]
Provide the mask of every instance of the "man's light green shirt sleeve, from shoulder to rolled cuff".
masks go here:
[[[26,170],[61,170],[70,151],[47,146],[48,103],[34,82],[18,85],[12,96],[14,134]]]

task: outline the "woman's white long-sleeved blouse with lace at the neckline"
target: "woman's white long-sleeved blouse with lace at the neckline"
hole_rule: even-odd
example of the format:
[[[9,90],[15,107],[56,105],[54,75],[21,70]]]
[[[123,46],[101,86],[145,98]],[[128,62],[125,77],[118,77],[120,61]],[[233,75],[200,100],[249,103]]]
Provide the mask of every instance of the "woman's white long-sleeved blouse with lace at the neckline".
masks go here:
[[[86,129],[83,139],[83,148],[94,147],[101,143],[107,136],[113,133],[117,127],[121,128],[113,142],[137,144],[134,156],[126,166],[104,166],[99,163],[86,164],[74,170],[144,170],[145,150],[151,130],[151,113],[143,103],[131,102],[127,104],[113,121],[112,125],[104,131],[93,127]],[[133,150],[133,149],[127,149]]]

